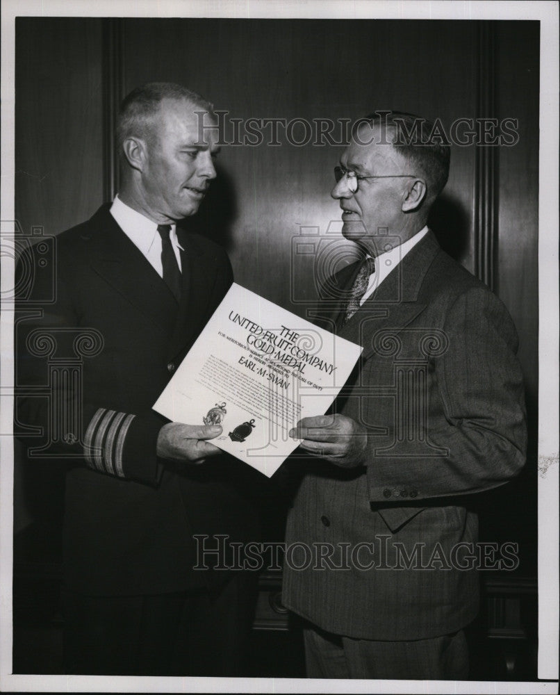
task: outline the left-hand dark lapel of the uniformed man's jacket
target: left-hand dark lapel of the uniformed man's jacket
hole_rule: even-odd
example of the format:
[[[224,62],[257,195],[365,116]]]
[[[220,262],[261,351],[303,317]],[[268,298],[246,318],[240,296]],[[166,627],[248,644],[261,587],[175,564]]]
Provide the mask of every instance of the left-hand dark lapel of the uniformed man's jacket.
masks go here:
[[[152,325],[170,334],[177,304],[163,279],[115,222],[108,205],[97,211],[91,223],[88,240],[94,271]]]

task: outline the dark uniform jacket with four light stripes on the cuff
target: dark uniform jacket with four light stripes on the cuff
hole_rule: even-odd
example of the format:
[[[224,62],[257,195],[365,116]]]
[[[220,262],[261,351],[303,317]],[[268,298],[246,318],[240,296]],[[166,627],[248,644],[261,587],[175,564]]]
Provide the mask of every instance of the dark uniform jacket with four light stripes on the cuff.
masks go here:
[[[221,247],[178,230],[185,249],[178,306],[109,209],[54,239],[51,300],[49,273],[36,265],[31,295],[19,303],[17,427],[35,428],[25,440],[35,449],[28,465],[68,463],[65,587],[100,596],[213,587],[228,573],[193,570],[193,534],[255,537],[256,514],[243,493],[248,467],[229,457],[199,466],[158,459],[167,420],[151,407],[227,292],[231,265]],[[50,355],[40,349],[45,335],[56,343]],[[90,341],[90,354],[65,382],[49,368],[75,357],[76,340]],[[33,393],[38,386],[48,398]]]

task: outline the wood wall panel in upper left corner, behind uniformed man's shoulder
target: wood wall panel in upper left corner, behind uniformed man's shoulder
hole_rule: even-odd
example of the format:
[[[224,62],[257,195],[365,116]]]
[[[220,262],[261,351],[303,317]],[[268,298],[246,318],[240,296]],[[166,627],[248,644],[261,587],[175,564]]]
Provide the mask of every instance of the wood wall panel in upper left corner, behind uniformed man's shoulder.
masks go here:
[[[101,19],[15,24],[15,213],[58,234],[103,195]]]

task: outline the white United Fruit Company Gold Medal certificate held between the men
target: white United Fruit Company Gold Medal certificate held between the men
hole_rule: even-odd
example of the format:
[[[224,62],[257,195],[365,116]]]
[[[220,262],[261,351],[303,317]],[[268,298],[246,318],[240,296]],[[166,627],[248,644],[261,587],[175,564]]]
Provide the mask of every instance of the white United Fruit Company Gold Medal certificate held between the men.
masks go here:
[[[362,348],[234,283],[154,404],[174,422],[221,425],[210,441],[264,475],[324,414]]]

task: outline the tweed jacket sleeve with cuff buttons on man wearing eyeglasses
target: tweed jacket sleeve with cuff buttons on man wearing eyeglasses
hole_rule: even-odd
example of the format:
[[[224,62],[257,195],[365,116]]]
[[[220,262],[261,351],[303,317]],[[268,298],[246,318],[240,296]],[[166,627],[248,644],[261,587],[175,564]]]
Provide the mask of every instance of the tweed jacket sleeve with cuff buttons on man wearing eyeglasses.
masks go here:
[[[507,310],[491,292],[473,288],[447,311],[444,330],[449,345],[431,361],[423,433],[434,455],[415,455],[410,443],[404,455],[379,456],[370,438],[372,501],[406,505],[395,490],[418,500],[477,493],[525,464],[525,398]]]

